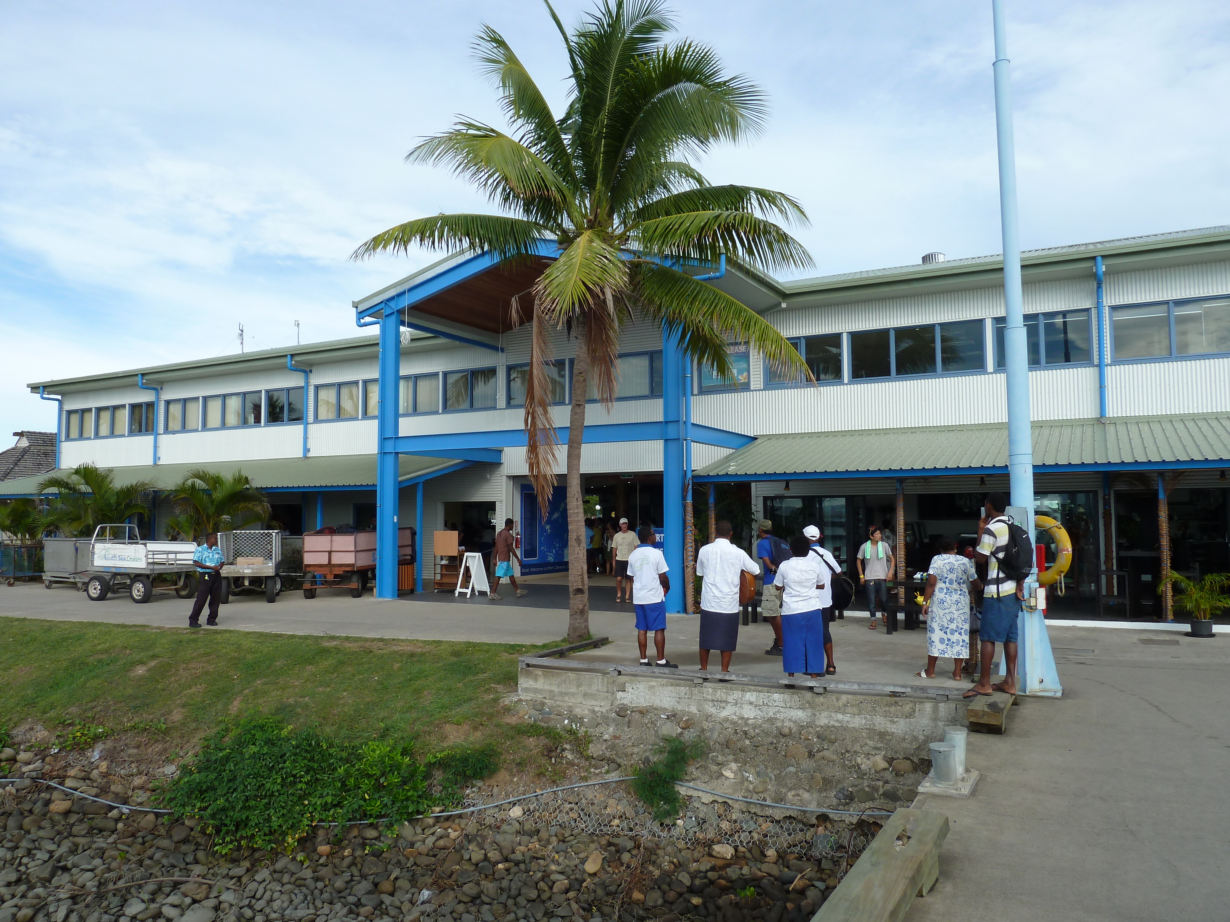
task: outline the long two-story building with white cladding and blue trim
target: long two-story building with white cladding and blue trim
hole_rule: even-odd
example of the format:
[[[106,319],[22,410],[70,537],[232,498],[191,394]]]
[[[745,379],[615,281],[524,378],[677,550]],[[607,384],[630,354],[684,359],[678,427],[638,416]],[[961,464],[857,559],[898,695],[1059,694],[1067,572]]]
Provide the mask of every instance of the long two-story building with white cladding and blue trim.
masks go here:
[[[562,478],[544,515],[526,476],[529,331],[512,305],[550,254],[514,270],[459,254],[355,301],[379,337],[31,388],[59,401],[59,468],[91,461],[156,486],[155,532],[170,515],[161,492],[186,471],[241,468],[292,532],[368,526],[385,497],[419,524],[428,575],[435,530],[504,516],[526,570],[562,569]],[[982,495],[1007,483],[1000,257],[788,283],[713,268],[696,272],[766,316],[817,384],[782,380],[739,343],[736,380],[717,380],[632,322],[619,400],[587,417],[587,495],[656,526],[679,563],[689,477],[697,497],[740,484],[779,531],[820,525],[845,562],[868,525],[895,522],[898,493],[911,567],[937,535],[970,534]],[[1053,611],[1097,612],[1100,570],[1114,570],[1130,613],[1154,613],[1160,510],[1176,569],[1230,569],[1230,226],[1028,251],[1022,270],[1037,506],[1075,546]],[[552,348],[567,427],[573,343],[560,332]],[[34,494],[38,479],[0,497]]]

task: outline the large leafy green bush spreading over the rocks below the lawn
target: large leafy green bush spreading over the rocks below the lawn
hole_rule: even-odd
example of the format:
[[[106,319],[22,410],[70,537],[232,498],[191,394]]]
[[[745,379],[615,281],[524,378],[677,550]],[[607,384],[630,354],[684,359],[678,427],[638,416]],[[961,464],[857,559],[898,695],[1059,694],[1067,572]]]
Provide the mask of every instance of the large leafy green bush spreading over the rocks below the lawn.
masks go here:
[[[497,762],[492,746],[418,760],[412,740],[348,744],[276,718],[246,719],[209,735],[161,799],[199,816],[220,852],[289,849],[317,822],[400,822],[454,803]]]

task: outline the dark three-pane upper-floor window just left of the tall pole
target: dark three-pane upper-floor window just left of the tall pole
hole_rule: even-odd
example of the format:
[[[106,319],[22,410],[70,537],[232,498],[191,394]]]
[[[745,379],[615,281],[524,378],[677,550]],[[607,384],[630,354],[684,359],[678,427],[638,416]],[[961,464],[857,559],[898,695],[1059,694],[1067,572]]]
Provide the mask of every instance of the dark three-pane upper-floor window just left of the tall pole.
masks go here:
[[[985,371],[985,334],[982,320],[850,333],[850,379]]]

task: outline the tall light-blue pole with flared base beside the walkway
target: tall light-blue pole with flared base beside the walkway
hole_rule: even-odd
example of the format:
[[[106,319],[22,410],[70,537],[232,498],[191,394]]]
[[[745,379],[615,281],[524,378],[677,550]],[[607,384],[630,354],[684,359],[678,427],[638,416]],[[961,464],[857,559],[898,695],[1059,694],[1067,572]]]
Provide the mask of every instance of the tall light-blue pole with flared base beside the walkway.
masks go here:
[[[995,140],[999,149],[1000,225],[1004,237],[1004,358],[1007,380],[1007,465],[1011,504],[1023,510],[1020,525],[1031,535],[1033,515],[1033,431],[1030,417],[1030,354],[1021,291],[1021,241],[1016,211],[1016,151],[1012,136],[1012,85],[1004,0],[991,0],[995,31]],[[1037,570],[1025,581],[1027,601],[1038,585]],[[1023,609],[1018,625],[1017,676],[1026,695],[1063,695],[1050,639],[1041,610]]]

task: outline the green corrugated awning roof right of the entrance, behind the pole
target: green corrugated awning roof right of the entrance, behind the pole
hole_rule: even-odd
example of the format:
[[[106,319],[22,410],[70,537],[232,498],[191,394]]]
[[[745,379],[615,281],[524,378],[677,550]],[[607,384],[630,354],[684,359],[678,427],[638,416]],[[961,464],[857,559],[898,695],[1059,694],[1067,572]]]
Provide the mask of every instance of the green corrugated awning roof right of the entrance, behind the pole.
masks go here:
[[[1066,419],[1033,424],[1034,467],[1230,462],[1230,416]],[[701,477],[1006,468],[1007,424],[761,435]]]

